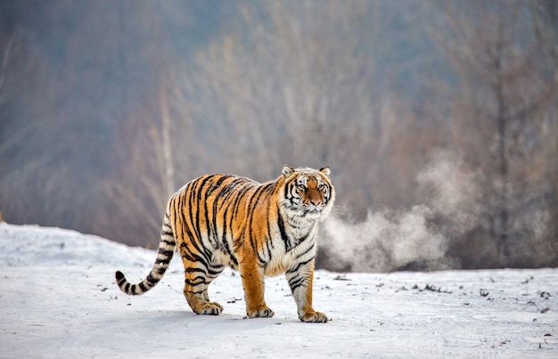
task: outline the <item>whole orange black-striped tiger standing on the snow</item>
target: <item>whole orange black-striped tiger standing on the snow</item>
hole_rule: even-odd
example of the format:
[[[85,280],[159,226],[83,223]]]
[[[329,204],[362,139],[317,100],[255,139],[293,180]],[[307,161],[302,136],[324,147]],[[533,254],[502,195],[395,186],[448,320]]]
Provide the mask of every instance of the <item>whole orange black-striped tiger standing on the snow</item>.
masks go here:
[[[221,314],[208,286],[230,266],[242,278],[249,318],[274,315],[264,298],[265,276],[284,273],[302,322],[328,322],[312,306],[318,223],[332,212],[330,168],[283,166],[260,184],[237,175],[202,175],[168,200],[151,272],[131,284],[117,271],[127,295],[151,290],[168,269],[175,249],[185,268],[184,295],[196,314]]]

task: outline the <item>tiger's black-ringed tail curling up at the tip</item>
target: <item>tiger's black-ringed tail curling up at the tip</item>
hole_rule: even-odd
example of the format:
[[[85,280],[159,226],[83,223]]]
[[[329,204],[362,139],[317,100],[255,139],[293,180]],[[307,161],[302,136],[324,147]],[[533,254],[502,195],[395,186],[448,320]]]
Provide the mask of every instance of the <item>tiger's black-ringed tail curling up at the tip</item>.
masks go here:
[[[169,210],[170,209],[168,209],[167,213],[165,213],[165,219],[163,220],[163,225],[160,230],[159,249],[152,271],[147,274],[143,281],[140,281],[137,284],[132,284],[127,281],[124,273],[120,271],[115,273],[116,284],[124,293],[131,296],[142,295],[157,285],[157,283],[159,283],[165,275],[165,272],[167,272],[168,265],[170,264],[170,260],[172,259],[176,248],[175,236],[170,223]]]

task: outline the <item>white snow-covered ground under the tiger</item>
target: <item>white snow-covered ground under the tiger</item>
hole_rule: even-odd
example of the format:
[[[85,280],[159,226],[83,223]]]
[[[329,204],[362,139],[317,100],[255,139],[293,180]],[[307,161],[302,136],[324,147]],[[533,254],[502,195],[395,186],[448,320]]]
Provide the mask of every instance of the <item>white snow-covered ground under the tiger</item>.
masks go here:
[[[210,286],[218,316],[193,314],[176,256],[160,284],[127,297],[155,252],[92,235],[0,224],[0,357],[558,357],[558,269],[431,273],[316,271],[303,323],[283,276],[267,278],[275,317],[246,319],[240,275]]]

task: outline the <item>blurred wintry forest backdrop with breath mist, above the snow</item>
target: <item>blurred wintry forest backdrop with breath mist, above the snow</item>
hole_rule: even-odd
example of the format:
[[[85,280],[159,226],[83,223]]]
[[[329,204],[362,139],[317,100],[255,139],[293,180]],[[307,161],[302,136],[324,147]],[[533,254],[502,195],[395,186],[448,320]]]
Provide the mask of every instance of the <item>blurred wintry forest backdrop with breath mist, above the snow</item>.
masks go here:
[[[284,163],[332,168],[318,266],[558,265],[558,2],[0,3],[6,222],[153,249],[187,181]]]

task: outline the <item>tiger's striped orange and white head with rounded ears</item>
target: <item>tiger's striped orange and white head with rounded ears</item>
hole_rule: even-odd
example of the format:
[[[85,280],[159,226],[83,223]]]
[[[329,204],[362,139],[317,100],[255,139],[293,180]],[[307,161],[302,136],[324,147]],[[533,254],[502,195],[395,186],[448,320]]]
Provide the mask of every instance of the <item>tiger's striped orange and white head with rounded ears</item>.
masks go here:
[[[329,175],[329,167],[316,170],[283,166],[283,209],[291,216],[304,218],[309,222],[323,220],[332,211],[335,200],[335,190]]]

